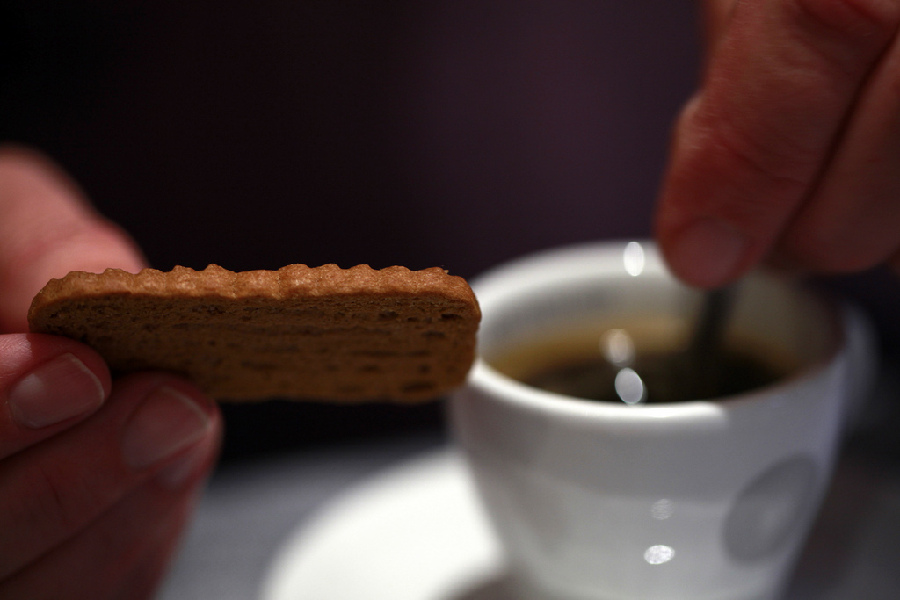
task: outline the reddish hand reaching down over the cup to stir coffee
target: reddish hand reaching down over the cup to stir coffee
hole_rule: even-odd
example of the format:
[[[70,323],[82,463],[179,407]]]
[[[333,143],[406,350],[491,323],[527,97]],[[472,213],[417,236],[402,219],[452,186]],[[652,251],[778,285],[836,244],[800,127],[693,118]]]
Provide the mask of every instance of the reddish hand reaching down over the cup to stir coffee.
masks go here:
[[[707,0],[702,82],[656,220],[669,266],[718,287],[761,261],[900,266],[900,2]]]

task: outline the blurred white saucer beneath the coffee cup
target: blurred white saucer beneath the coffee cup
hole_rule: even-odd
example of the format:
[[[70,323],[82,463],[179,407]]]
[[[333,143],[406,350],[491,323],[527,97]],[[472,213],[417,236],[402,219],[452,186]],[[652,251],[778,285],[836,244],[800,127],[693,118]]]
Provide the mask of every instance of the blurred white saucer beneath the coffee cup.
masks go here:
[[[458,453],[344,495],[278,554],[262,600],[499,600],[503,560]]]

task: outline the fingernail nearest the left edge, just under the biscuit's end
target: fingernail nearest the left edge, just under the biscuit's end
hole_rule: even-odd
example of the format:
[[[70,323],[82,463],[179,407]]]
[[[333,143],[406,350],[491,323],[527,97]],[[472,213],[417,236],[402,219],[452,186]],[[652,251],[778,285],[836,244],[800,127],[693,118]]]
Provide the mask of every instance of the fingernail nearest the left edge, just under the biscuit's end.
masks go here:
[[[88,413],[106,397],[103,384],[73,354],[62,354],[20,379],[9,390],[9,409],[31,429]]]

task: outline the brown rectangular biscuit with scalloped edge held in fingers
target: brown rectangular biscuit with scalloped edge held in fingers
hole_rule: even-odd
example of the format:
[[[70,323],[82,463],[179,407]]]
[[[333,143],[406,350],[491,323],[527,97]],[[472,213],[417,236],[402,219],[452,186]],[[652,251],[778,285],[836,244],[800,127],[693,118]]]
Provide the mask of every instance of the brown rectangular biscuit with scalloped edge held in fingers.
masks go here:
[[[465,381],[481,313],[465,280],[439,268],[210,265],[69,273],[28,318],[116,373],[179,373],[222,400],[417,401]]]

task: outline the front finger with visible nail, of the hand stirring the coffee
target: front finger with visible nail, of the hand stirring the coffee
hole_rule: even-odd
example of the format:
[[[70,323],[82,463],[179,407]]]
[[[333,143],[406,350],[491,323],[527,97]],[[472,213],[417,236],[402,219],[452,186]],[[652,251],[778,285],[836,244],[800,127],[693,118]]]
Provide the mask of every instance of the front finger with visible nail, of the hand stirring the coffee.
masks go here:
[[[900,23],[893,0],[737,2],[682,112],[657,212],[672,270],[715,287],[772,248]]]

